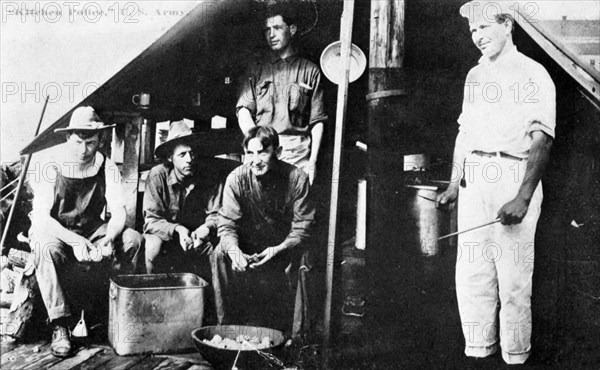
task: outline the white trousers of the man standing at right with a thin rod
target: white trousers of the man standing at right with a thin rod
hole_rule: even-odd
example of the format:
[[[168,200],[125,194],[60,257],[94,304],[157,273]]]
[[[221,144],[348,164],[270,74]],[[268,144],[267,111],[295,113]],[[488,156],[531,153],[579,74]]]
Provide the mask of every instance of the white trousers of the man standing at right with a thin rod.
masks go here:
[[[526,160],[468,155],[458,229],[495,220],[500,208],[517,195],[526,167]],[[505,362],[523,363],[529,356],[534,239],[541,203],[539,184],[520,224],[496,223],[458,236],[456,293],[467,356],[495,353],[498,338]]]

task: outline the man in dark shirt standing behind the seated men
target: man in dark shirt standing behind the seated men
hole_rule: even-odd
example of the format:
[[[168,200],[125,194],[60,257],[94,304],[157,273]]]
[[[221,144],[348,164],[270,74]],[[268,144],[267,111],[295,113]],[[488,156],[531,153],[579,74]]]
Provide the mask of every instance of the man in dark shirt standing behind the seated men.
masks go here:
[[[297,31],[288,9],[270,8],[264,32],[272,53],[250,66],[236,111],[244,135],[254,126],[274,128],[283,148],[279,159],[304,170],[312,184],[327,114],[321,71],[297,55]]]

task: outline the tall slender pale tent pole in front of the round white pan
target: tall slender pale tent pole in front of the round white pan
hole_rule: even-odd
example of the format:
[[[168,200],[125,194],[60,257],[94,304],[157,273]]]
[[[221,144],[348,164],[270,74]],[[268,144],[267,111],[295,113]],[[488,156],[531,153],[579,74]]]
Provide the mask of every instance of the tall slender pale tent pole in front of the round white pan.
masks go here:
[[[344,135],[344,123],[346,120],[346,105],[348,103],[348,84],[350,77],[350,48],[352,44],[352,22],[354,18],[354,0],[344,1],[344,12],[342,14],[340,40],[341,45],[341,60],[343,62],[343,70],[345,71],[344,79],[338,86],[337,110],[335,122],[335,140],[333,146],[333,171],[331,176],[331,204],[329,208],[329,233],[327,238],[327,275],[326,288],[327,295],[325,298],[325,315],[323,319],[323,348],[327,362],[329,342],[331,339],[331,300],[333,296],[333,263],[335,251],[335,238],[337,227],[337,208],[338,208],[338,192],[339,179],[341,172],[342,160],[342,138]]]

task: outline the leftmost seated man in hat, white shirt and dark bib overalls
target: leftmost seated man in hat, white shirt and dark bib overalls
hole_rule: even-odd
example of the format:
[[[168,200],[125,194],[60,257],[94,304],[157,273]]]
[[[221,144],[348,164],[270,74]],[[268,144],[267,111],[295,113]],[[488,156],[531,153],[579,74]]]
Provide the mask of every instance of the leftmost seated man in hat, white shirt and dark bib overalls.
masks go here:
[[[55,130],[67,138],[57,158],[45,163],[41,176],[29,174],[34,189],[30,245],[40,293],[54,326],[50,349],[57,357],[71,353],[67,326],[72,289],[67,284],[77,281],[74,274],[85,267],[80,263],[112,262],[114,255],[134,271],[142,242],[138,232],[125,228],[119,169],[99,152],[106,129],[113,126],[100,121],[92,107],[75,109],[69,126]],[[105,207],[111,213],[108,222],[102,218]]]

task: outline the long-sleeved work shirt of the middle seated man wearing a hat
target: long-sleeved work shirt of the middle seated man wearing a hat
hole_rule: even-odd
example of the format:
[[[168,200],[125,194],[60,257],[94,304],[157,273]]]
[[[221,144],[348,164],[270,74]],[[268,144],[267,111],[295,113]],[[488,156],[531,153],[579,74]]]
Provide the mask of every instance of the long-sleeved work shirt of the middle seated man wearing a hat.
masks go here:
[[[200,161],[189,190],[179,182],[172,167],[160,164],[150,170],[144,192],[144,233],[168,241],[177,225],[194,231],[206,223],[211,234],[216,234],[225,179],[239,163],[216,158]]]

